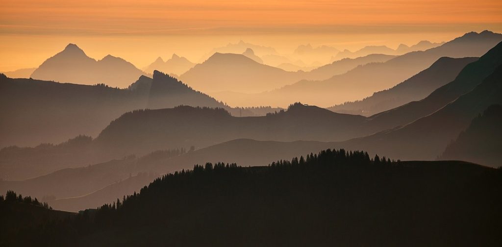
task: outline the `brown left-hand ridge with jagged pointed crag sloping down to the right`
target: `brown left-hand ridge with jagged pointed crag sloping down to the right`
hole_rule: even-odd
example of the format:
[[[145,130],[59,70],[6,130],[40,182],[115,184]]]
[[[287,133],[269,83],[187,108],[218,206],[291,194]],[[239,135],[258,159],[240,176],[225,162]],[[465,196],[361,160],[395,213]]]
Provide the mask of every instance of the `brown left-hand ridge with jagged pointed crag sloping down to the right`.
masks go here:
[[[224,107],[236,116],[274,112],[275,108],[230,108],[173,77],[154,72],[127,89],[77,85],[0,74],[0,147],[60,143],[79,134],[95,136],[124,112],[181,104]],[[254,112],[256,110],[257,113]],[[16,114],[12,114],[16,112]]]

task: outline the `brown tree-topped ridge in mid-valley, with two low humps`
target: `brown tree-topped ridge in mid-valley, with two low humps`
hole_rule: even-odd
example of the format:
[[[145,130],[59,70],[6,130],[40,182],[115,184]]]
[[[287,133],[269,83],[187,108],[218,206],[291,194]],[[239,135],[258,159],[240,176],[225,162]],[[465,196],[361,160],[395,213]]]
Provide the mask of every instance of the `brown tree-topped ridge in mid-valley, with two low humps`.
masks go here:
[[[141,155],[159,149],[207,147],[240,138],[342,141],[355,135],[364,119],[300,103],[287,111],[257,117],[234,117],[224,109],[180,106],[123,114],[94,142],[108,153]]]

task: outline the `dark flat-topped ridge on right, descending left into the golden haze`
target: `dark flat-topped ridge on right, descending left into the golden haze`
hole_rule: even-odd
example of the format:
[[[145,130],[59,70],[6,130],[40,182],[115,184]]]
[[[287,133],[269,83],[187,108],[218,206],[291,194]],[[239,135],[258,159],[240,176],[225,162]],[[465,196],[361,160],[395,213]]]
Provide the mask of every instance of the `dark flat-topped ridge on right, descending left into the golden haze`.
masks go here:
[[[477,61],[477,59],[442,57],[433,63],[431,67],[390,89],[375,92],[370,97],[362,100],[345,102],[328,109],[340,113],[369,116],[411,101],[421,100],[437,88],[454,80],[465,65]]]

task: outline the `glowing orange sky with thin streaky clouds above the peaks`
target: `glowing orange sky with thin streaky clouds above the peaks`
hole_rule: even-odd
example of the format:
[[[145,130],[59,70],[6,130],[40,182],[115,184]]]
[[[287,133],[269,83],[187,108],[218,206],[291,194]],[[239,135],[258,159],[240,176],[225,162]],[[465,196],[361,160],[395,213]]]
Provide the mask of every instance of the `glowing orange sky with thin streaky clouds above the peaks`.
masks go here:
[[[396,48],[485,29],[502,32],[502,1],[2,0],[0,71],[37,67],[68,43],[141,68],[174,52],[199,62],[239,40],[289,53],[307,43]]]

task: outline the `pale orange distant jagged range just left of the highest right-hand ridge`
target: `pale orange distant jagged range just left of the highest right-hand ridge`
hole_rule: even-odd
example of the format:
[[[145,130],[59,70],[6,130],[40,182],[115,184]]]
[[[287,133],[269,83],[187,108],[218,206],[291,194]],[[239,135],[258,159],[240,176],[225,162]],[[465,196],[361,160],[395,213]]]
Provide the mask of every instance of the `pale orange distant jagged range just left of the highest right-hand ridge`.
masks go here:
[[[403,55],[408,52],[425,51],[434,47],[441,46],[443,44],[444,42],[431,43],[430,41],[423,40],[412,46],[400,44],[396,50],[389,48],[387,46],[366,46],[355,52],[351,52],[349,50],[343,50],[337,53],[333,59],[339,60],[343,58],[356,58],[356,57],[367,56],[369,54]]]

